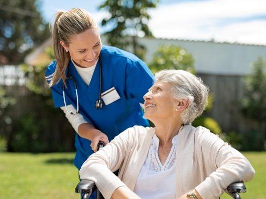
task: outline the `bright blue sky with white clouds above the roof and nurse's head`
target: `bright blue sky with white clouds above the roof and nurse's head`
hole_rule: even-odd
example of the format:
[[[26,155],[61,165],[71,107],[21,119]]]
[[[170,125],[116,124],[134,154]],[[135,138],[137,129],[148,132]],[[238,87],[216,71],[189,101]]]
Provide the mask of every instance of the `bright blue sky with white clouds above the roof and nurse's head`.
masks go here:
[[[81,7],[100,23],[103,0],[40,0],[47,22],[57,10]],[[155,37],[266,45],[266,0],[161,0],[149,9]],[[101,33],[106,28],[100,27]]]

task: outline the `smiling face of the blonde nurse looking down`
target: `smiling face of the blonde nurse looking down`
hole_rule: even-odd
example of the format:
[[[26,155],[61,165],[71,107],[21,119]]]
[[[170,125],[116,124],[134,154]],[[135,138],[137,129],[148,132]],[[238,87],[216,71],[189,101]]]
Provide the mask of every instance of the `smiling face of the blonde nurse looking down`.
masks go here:
[[[90,28],[72,36],[69,46],[66,46],[63,41],[60,43],[69,50],[72,60],[80,67],[93,66],[102,47],[98,28]]]

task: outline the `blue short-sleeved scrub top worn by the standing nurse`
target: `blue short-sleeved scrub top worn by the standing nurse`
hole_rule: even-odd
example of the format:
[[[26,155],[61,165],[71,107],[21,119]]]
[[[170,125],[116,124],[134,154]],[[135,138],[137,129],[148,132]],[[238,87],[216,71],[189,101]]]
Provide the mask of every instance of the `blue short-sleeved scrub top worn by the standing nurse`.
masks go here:
[[[101,130],[112,140],[117,134],[134,125],[149,126],[143,117],[140,102],[154,83],[154,76],[148,66],[137,56],[111,46],[102,46],[101,59],[101,93],[115,87],[120,98],[108,105],[103,103],[101,109],[95,108],[99,97],[99,64],[98,61],[89,85],[82,80],[72,61],[68,63],[66,74],[75,79],[79,98],[79,113],[96,129]],[[46,70],[46,76],[51,75],[56,68],[54,60]],[[65,88],[66,104],[72,104],[77,109],[76,93],[72,80],[67,80]],[[64,106],[63,81],[51,87],[55,107]],[[82,163],[93,153],[90,140],[75,136],[76,156],[74,164],[80,169]]]

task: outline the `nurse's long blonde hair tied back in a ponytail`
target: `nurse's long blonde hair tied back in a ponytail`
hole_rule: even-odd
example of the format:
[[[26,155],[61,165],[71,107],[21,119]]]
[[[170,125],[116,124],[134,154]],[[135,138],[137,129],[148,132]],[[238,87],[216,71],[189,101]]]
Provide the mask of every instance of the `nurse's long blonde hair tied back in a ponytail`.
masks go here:
[[[71,37],[84,32],[89,28],[98,28],[97,23],[90,16],[89,12],[81,8],[73,8],[69,11],[58,11],[52,27],[53,48],[56,58],[56,69],[53,74],[46,78],[50,80],[49,87],[53,86],[61,79],[65,84],[66,68],[69,62],[69,52],[66,52],[60,44],[63,41],[69,45]]]

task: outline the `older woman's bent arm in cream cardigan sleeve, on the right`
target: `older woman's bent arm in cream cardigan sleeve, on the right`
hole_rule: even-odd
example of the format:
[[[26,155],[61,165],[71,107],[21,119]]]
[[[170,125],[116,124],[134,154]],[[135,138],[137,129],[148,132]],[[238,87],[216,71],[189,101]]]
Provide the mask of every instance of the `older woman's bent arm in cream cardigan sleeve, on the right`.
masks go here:
[[[252,179],[255,171],[239,151],[209,131],[204,130],[199,134],[204,158],[213,168],[216,168],[195,187],[202,198],[217,198],[230,183]]]

